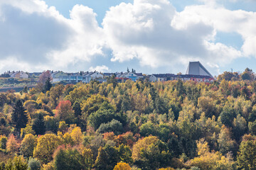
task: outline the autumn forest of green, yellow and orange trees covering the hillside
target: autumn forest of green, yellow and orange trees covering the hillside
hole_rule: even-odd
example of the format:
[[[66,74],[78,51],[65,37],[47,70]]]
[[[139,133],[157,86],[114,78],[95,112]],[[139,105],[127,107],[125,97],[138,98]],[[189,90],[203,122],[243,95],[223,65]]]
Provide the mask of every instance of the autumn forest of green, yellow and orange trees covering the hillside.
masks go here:
[[[0,93],[0,169],[256,169],[252,70]]]

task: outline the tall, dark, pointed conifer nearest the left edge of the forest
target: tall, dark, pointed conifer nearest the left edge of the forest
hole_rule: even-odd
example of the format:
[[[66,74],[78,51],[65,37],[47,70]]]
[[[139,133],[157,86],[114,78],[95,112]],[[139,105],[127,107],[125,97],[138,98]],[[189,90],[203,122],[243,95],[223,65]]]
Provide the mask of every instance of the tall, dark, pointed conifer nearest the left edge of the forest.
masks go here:
[[[11,114],[11,122],[14,127],[19,132],[21,128],[26,128],[26,123],[28,122],[28,115],[26,115],[25,108],[23,108],[23,103],[21,99],[16,101],[14,106],[14,112]]]

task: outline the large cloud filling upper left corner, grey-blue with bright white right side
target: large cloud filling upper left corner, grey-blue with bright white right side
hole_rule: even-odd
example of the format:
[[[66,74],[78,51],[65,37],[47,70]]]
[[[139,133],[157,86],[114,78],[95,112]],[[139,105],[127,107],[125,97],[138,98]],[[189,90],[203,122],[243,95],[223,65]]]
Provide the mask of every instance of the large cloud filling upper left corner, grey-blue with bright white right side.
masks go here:
[[[103,55],[105,43],[95,16],[85,6],[74,6],[68,19],[44,1],[1,1],[0,62],[8,65],[6,59],[12,56],[26,63],[24,71],[67,69],[68,65],[90,62],[93,56]],[[0,67],[1,72],[4,69]]]

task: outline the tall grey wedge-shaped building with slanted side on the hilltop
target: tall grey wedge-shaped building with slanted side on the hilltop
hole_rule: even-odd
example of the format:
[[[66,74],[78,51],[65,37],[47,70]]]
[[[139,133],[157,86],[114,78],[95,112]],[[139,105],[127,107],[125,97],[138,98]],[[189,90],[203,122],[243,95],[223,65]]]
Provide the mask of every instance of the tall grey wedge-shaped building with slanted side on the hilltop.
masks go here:
[[[208,72],[208,70],[205,67],[203,67],[203,65],[200,62],[189,62],[186,74],[196,76],[209,76],[213,78],[210,72]]]

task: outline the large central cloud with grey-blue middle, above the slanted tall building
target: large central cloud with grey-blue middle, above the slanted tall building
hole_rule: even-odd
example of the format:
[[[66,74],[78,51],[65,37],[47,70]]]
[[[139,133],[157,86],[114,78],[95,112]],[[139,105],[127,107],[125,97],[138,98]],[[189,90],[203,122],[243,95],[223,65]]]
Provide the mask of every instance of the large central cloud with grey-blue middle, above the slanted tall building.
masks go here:
[[[110,8],[102,25],[112,61],[137,58],[142,65],[163,67],[189,60],[223,64],[241,56],[239,50],[213,42],[215,25],[203,20],[203,13],[186,10],[176,12],[167,0],[134,0]]]

